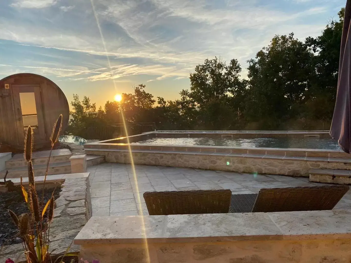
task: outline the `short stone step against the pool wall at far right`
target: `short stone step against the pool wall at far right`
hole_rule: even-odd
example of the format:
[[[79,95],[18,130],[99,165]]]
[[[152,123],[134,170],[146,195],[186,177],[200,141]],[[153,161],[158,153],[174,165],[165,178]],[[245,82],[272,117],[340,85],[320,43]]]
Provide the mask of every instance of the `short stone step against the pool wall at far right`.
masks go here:
[[[351,184],[351,170],[310,169],[310,182]]]

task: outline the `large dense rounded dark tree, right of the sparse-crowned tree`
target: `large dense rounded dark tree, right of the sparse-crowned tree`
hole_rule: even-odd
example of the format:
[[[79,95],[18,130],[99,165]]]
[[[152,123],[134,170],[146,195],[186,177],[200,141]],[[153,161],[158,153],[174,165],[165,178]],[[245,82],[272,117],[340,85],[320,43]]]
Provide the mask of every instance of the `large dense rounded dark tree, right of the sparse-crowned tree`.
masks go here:
[[[276,35],[256,59],[248,62],[250,89],[245,114],[250,121],[278,128],[303,111],[315,76],[310,47],[295,39],[293,33]]]

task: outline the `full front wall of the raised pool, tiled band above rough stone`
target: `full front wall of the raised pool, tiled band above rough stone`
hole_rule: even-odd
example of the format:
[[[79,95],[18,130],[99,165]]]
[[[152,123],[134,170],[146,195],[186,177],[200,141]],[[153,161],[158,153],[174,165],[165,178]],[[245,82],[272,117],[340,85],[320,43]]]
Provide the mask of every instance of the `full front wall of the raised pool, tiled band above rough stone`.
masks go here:
[[[311,168],[351,170],[351,157],[342,150],[148,144],[130,147],[135,164],[306,177]],[[89,155],[105,156],[106,162],[131,163],[126,144],[91,143],[84,148]]]

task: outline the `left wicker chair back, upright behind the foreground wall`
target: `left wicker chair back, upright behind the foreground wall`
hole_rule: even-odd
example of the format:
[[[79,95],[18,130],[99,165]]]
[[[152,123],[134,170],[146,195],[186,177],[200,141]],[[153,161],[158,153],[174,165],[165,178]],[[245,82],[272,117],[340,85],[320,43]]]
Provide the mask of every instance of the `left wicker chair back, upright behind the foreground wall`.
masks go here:
[[[145,192],[149,215],[219,214],[228,213],[232,191],[190,190]]]

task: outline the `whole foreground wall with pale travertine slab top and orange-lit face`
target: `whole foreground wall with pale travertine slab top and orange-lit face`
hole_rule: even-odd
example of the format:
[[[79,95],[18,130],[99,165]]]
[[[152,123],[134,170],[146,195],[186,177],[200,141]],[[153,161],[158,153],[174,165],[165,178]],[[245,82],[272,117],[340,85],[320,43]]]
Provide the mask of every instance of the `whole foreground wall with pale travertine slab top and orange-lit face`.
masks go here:
[[[346,210],[92,217],[74,242],[89,262],[347,263],[350,219]]]

